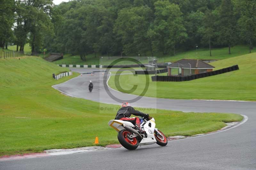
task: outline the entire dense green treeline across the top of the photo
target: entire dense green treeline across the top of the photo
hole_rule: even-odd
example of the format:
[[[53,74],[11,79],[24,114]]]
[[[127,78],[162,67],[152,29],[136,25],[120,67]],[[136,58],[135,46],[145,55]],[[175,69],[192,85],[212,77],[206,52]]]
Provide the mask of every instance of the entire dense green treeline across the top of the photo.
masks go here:
[[[0,46],[111,55],[175,55],[177,50],[256,39],[254,0],[2,0]],[[11,3],[10,3],[11,2]],[[3,15],[2,15],[3,13]],[[17,47],[18,50],[18,47]]]

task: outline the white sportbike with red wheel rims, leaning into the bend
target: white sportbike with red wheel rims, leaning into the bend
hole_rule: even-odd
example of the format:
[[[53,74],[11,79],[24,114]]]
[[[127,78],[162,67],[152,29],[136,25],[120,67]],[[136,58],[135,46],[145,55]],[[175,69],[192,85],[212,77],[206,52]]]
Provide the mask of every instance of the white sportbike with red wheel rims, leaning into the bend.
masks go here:
[[[128,121],[110,120],[108,125],[118,132],[118,141],[128,150],[134,150],[141,145],[157,143],[160,146],[165,146],[168,143],[163,132],[155,128],[155,119],[152,117],[140,118],[140,128],[145,131],[144,134],[140,134],[136,127]]]

